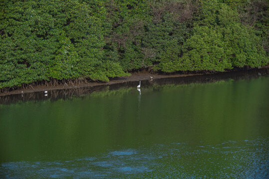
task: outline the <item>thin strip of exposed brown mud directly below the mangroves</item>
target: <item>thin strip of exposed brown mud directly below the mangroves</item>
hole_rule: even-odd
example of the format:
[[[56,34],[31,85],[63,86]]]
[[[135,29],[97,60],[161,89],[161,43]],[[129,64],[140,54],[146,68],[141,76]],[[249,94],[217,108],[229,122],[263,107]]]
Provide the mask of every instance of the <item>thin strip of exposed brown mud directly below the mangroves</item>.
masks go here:
[[[225,72],[217,72],[214,74],[209,73],[188,73],[188,74],[170,74],[170,75],[164,75],[164,74],[158,74],[158,73],[150,73],[150,72],[134,72],[131,73],[131,76],[128,77],[115,77],[111,79],[107,83],[98,83],[98,82],[88,82],[88,83],[81,83],[79,85],[56,85],[56,86],[45,86],[45,85],[38,85],[33,88],[27,88],[27,89],[15,89],[8,92],[0,92],[0,96],[7,96],[12,94],[21,94],[21,91],[23,93],[31,93],[31,92],[40,92],[40,91],[51,91],[51,90],[59,90],[59,89],[78,89],[78,88],[85,88],[85,87],[97,87],[97,86],[109,86],[113,84],[121,84],[126,82],[139,82],[144,80],[156,80],[156,79],[164,79],[164,78],[179,78],[179,77],[191,77],[191,76],[203,76],[203,75],[210,75],[212,77],[219,75],[219,74],[229,74],[234,72],[249,72],[252,70],[261,70],[261,69],[267,69],[269,71],[269,65],[262,67],[260,69],[258,68],[252,68],[252,69],[239,69],[234,71],[225,71]],[[151,78],[152,77],[152,78]]]

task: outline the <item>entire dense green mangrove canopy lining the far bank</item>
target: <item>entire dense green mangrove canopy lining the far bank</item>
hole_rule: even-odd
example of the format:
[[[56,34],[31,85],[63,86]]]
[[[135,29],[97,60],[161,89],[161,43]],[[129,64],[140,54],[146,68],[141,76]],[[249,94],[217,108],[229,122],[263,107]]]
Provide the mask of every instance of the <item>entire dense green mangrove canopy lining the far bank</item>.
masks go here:
[[[267,0],[1,0],[0,89],[269,63]]]

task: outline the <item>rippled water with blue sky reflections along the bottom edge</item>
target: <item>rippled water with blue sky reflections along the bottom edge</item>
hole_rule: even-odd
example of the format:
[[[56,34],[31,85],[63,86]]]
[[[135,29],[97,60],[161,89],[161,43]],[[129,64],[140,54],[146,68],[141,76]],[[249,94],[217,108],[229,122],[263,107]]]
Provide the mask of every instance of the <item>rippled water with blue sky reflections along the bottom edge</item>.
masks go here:
[[[269,175],[269,138],[154,145],[107,151],[97,156],[54,162],[9,162],[0,165],[2,179],[244,178]],[[23,176],[23,177],[22,177]]]

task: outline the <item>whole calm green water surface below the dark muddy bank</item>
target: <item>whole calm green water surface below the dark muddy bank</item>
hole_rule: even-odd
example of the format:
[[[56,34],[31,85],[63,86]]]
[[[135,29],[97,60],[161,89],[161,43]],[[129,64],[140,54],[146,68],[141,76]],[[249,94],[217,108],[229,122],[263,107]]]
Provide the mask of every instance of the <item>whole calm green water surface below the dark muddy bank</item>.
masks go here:
[[[0,104],[0,178],[269,178],[269,76],[159,84]]]

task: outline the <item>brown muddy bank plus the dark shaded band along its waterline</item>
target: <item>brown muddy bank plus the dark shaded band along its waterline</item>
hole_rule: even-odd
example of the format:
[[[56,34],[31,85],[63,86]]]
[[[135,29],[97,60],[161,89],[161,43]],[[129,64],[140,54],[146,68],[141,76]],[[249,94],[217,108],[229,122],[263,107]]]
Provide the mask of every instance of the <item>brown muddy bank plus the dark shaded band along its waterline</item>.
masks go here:
[[[168,85],[168,84],[191,84],[191,83],[213,83],[221,80],[243,80],[259,78],[260,76],[269,75],[269,67],[262,69],[252,69],[248,71],[223,72],[217,74],[176,74],[176,75],[158,75],[150,73],[134,73],[130,77],[112,79],[108,83],[89,83],[79,86],[55,86],[46,87],[38,86],[34,89],[14,90],[8,93],[0,94],[0,104],[13,103],[18,101],[28,100],[57,100],[66,99],[72,96],[80,96],[93,91],[114,90],[120,88],[136,88],[141,81],[141,88],[151,87],[153,85]],[[152,79],[150,77],[153,77]],[[47,90],[47,96],[44,91]]]

